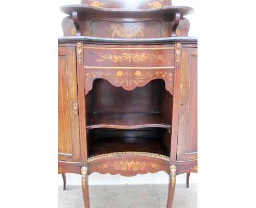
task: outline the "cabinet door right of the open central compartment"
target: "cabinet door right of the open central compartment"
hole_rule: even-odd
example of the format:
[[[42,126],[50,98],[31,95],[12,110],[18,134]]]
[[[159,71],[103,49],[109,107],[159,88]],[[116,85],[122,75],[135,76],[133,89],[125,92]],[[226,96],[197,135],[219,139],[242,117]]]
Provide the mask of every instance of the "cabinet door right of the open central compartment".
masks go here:
[[[197,48],[182,47],[177,160],[197,159]]]

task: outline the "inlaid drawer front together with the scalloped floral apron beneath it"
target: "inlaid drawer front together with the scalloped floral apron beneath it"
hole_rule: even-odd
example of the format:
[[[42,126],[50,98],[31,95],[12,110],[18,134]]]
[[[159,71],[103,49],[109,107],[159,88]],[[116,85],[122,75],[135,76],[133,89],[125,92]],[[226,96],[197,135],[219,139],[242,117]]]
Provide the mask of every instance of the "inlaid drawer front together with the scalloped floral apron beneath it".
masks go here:
[[[85,94],[96,78],[132,90],[163,79],[173,94],[174,46],[84,46]]]

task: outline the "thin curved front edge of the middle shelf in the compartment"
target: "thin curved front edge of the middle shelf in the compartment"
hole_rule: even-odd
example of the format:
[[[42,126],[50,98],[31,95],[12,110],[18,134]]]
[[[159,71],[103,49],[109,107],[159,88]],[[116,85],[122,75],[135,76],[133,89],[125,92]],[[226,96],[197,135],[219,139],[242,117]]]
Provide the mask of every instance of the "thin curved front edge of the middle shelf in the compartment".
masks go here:
[[[108,129],[142,129],[148,127],[158,127],[164,129],[171,129],[171,125],[168,124],[142,124],[142,125],[109,125],[109,124],[96,124],[87,126],[86,129],[108,128]]]

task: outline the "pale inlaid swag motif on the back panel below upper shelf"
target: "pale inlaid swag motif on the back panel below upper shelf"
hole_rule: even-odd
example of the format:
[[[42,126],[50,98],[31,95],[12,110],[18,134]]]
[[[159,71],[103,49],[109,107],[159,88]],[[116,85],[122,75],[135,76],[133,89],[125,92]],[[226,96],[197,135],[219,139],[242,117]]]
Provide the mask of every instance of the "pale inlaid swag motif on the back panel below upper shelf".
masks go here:
[[[111,24],[111,29],[113,29],[112,38],[114,36],[119,36],[121,38],[132,38],[141,37],[143,38],[143,29],[145,29],[144,24],[138,24],[135,26],[121,26],[119,24]]]

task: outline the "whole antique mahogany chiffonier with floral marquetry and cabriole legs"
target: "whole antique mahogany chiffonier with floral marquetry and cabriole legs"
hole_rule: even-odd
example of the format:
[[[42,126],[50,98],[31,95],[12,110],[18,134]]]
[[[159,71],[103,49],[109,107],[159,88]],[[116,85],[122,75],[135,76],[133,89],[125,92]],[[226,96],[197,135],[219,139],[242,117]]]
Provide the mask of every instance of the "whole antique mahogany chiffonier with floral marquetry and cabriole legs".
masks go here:
[[[197,39],[171,0],[64,5],[59,38],[59,174],[197,172]]]

